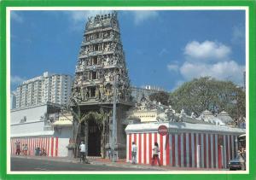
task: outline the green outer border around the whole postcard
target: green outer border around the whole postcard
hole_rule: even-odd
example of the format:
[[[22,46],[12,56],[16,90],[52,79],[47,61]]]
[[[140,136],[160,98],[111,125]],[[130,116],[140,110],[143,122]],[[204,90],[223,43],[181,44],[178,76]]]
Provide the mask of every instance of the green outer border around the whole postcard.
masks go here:
[[[179,180],[187,180],[187,179],[207,179],[207,180],[215,180],[220,179],[256,179],[256,124],[253,122],[256,118],[256,111],[253,110],[253,107],[256,106],[255,100],[255,92],[256,92],[256,83],[254,78],[256,77],[256,59],[255,59],[255,51],[256,51],[256,1],[254,0],[218,0],[218,1],[177,1],[177,0],[134,0],[134,1],[82,1],[82,0],[0,0],[0,179],[67,179],[67,178],[77,178],[77,179],[179,179]],[[6,88],[6,8],[7,7],[74,7],[74,6],[85,6],[85,7],[139,7],[139,6],[246,6],[249,9],[249,136],[250,136],[250,170],[249,174],[35,174],[35,175],[25,175],[25,174],[12,174],[9,175],[6,173],[6,102],[7,102],[7,88]]]

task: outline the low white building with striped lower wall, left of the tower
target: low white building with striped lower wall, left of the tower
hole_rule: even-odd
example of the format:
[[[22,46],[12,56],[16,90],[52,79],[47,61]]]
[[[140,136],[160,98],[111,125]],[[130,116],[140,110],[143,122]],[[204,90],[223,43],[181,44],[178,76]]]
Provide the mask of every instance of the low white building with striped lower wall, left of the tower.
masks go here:
[[[73,126],[71,121],[63,123],[65,119],[59,113],[60,105],[50,102],[11,110],[10,154],[15,154],[16,144],[21,148],[27,144],[28,155],[35,155],[40,148],[47,156],[67,156]]]

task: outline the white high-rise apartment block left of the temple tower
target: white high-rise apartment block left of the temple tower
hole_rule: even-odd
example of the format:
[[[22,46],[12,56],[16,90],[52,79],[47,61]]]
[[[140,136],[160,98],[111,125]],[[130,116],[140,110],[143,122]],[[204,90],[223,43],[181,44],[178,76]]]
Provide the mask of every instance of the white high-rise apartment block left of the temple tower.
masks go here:
[[[66,104],[71,95],[72,77],[66,74],[44,73],[20,84],[16,90],[16,108],[52,102]]]

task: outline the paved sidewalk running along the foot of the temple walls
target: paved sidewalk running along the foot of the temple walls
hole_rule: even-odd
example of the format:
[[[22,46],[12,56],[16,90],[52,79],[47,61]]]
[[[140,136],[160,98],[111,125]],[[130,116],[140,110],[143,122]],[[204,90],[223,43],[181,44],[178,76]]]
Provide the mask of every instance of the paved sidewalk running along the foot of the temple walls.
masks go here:
[[[23,155],[12,155],[11,157],[21,158],[21,159],[28,159],[28,160],[49,160],[49,161],[59,161],[59,162],[71,162],[71,163],[80,163],[79,159],[70,159],[67,157],[48,157],[48,156],[23,156]],[[171,166],[158,166],[158,165],[142,165],[136,164],[133,165],[129,162],[126,162],[126,159],[119,159],[117,162],[112,162],[109,159],[90,159],[88,158],[90,165],[108,165],[114,167],[125,167],[125,168],[137,168],[143,170],[158,170],[158,171],[224,171],[224,170],[217,170],[217,169],[202,169],[202,168],[191,168],[191,167],[171,167]]]

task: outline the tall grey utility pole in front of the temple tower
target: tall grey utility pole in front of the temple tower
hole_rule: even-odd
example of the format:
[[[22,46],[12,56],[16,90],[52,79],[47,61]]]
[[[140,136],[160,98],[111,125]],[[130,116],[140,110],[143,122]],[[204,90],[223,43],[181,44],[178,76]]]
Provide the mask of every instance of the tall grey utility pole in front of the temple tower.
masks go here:
[[[116,154],[115,154],[115,150],[114,150],[114,146],[116,144],[116,78],[117,76],[115,75],[113,77],[113,118],[112,118],[112,150],[113,150],[113,154],[112,154],[112,161],[115,162],[116,161]]]

